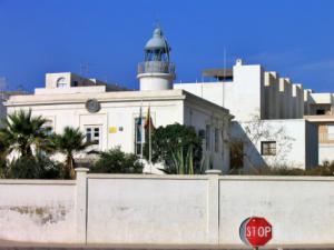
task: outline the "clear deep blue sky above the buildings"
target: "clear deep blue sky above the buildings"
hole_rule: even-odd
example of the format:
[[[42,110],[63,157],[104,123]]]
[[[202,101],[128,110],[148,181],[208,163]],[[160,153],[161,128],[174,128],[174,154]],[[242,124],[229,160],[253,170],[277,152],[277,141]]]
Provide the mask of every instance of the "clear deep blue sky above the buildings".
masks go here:
[[[173,48],[176,81],[236,58],[305,88],[334,92],[332,0],[0,0],[0,77],[43,87],[46,72],[138,88],[137,63],[156,20]]]

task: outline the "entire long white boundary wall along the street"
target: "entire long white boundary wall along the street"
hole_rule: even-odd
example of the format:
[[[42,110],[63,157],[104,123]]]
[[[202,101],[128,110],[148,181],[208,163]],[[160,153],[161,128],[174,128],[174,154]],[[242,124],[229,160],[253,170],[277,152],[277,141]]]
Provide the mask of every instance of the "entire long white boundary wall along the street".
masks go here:
[[[334,244],[334,178],[87,174],[0,181],[0,240],[242,246],[250,216],[272,246]]]

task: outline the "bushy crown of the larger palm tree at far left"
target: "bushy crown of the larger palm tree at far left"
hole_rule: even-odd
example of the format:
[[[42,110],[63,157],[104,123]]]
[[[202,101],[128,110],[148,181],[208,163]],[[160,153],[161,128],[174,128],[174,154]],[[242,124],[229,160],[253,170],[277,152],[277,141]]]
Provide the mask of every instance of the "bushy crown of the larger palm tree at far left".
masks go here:
[[[18,152],[21,157],[32,157],[32,147],[42,150],[48,143],[47,119],[32,117],[31,110],[16,111],[2,120],[0,138],[7,146],[7,153]]]

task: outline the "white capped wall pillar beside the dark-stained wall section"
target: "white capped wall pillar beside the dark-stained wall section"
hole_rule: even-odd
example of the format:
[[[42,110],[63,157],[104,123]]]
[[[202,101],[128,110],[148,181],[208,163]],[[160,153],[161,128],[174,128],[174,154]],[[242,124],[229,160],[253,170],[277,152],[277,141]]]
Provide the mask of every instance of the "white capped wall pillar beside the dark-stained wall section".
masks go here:
[[[87,168],[77,168],[77,240],[78,243],[87,243]]]

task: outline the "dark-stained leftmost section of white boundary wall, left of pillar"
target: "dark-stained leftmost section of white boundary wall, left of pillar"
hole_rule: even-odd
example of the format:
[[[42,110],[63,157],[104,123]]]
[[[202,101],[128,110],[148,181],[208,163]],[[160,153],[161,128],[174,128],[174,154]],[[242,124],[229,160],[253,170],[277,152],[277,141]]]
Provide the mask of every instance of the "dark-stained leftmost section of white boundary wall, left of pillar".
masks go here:
[[[76,182],[0,180],[0,240],[77,242]]]

